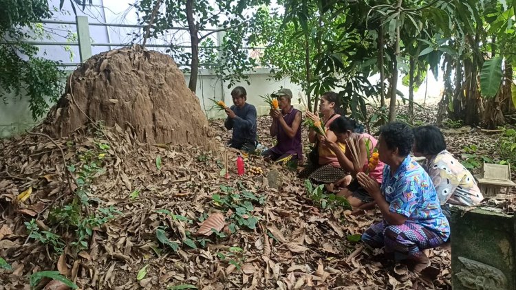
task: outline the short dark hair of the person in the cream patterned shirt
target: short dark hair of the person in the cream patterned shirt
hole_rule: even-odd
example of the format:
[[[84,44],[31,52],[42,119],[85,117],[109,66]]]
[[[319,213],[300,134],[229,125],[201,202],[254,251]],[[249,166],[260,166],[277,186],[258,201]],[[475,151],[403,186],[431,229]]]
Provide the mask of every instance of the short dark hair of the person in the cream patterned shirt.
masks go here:
[[[420,126],[413,129],[416,150],[422,155],[436,155],[446,149],[446,141],[436,126]]]

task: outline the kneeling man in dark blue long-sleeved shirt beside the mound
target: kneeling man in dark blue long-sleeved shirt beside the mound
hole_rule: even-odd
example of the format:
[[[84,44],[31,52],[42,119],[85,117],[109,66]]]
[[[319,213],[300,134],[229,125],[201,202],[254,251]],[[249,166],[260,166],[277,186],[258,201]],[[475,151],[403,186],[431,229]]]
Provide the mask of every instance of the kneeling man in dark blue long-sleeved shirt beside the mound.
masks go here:
[[[226,108],[226,129],[233,129],[233,137],[228,141],[228,146],[251,152],[256,150],[256,108],[246,103],[247,92],[244,87],[235,87],[231,91],[233,106]]]

